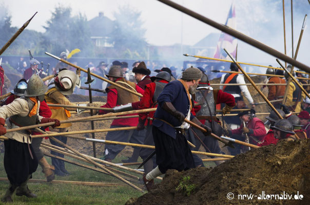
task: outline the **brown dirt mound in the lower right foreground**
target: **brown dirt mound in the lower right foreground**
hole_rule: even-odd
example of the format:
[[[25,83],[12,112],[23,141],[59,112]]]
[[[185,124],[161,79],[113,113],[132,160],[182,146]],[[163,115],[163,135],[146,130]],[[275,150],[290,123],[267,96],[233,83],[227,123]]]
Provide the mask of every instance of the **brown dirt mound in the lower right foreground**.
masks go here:
[[[285,194],[283,193],[285,191]],[[302,200],[286,199],[303,195]],[[229,200],[228,197],[234,198]],[[238,196],[247,194],[248,196]],[[252,194],[252,195],[250,195]],[[259,199],[284,194],[284,199]],[[239,197],[239,199],[238,199]],[[132,201],[132,199],[131,199]],[[214,169],[169,170],[151,192],[127,204],[309,204],[310,143],[280,141],[240,154]]]

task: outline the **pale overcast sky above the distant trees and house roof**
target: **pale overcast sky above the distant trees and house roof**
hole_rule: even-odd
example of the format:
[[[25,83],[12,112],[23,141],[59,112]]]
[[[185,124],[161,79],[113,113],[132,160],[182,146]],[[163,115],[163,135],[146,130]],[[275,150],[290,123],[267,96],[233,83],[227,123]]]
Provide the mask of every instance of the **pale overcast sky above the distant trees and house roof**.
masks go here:
[[[120,5],[129,4],[131,8],[142,12],[141,18],[147,29],[145,37],[148,43],[154,45],[181,43],[182,15],[183,44],[193,45],[209,32],[219,32],[156,0],[0,0],[0,2],[9,9],[12,25],[16,27],[21,27],[37,11],[27,28],[41,32],[45,31],[42,26],[46,25],[51,12],[58,4],[70,6],[73,14],[81,12],[88,20],[98,16],[101,11],[113,19],[113,12],[118,11]],[[232,1],[176,0],[175,2],[224,24]]]

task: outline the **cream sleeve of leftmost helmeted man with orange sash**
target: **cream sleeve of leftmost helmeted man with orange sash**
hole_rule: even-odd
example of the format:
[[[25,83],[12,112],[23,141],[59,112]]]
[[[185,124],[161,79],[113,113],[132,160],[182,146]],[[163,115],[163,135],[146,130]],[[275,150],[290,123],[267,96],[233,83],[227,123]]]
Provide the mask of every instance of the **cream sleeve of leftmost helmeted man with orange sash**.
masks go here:
[[[28,103],[25,99],[17,98],[9,105],[2,106],[0,108],[0,117],[8,118],[13,115],[27,116],[29,113]]]

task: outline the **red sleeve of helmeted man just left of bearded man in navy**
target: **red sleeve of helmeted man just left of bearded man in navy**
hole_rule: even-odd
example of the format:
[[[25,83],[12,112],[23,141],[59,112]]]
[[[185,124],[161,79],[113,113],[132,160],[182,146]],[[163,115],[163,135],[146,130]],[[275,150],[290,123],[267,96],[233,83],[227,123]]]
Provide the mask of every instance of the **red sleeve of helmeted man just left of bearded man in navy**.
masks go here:
[[[153,95],[155,92],[156,84],[150,83],[145,86],[144,95],[140,100],[139,110],[151,108],[153,105]],[[145,120],[148,113],[139,113],[139,117]]]

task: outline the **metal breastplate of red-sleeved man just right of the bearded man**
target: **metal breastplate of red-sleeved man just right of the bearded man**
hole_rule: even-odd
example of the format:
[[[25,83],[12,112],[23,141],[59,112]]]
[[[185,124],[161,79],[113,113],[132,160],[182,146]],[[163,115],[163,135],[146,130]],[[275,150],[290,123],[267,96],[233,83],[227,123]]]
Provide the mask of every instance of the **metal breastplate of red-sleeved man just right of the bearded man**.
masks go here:
[[[202,93],[204,93],[204,95],[206,95],[207,92],[208,92],[208,90],[202,91]],[[206,99],[208,100],[208,105],[210,107],[212,116],[216,116],[216,105],[215,105],[214,96],[213,96],[212,91],[209,91],[207,93]],[[196,92],[196,99],[195,100],[197,101],[197,103],[199,103],[201,105],[201,109],[196,113],[196,116],[210,116],[210,112],[209,112],[208,106],[206,104],[206,101],[205,101],[204,97],[202,96],[202,94],[199,90]]]

